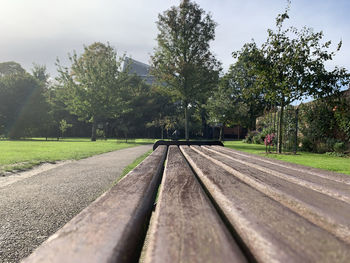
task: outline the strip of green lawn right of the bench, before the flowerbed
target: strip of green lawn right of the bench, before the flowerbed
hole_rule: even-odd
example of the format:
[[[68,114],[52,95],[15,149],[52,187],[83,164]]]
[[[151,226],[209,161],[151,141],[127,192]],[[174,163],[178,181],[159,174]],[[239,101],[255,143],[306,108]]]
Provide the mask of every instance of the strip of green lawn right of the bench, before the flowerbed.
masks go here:
[[[338,173],[350,174],[350,158],[329,156],[326,154],[298,152],[297,155],[265,154],[265,145],[247,144],[242,141],[226,141],[226,147],[243,152],[258,154],[268,158],[290,163],[320,168]]]

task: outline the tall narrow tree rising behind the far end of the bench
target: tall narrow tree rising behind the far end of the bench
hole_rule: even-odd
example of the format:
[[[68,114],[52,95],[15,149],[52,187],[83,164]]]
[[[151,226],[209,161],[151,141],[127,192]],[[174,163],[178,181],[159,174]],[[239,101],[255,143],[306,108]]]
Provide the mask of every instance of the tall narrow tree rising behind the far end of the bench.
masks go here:
[[[158,47],[152,59],[152,74],[182,102],[185,137],[189,139],[189,107],[215,86],[220,64],[209,49],[216,23],[189,0],[158,16]]]

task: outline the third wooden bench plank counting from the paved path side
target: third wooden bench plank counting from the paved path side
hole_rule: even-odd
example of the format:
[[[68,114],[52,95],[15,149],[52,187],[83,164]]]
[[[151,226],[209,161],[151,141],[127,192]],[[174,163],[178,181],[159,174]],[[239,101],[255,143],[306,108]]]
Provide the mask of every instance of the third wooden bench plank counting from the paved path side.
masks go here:
[[[349,261],[345,242],[244,183],[196,147],[180,148],[258,262]]]

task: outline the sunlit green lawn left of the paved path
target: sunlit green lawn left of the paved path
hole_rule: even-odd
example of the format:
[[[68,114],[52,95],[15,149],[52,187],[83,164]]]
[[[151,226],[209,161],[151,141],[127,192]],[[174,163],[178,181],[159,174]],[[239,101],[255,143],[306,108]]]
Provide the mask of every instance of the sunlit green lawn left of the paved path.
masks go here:
[[[98,140],[91,142],[87,138],[68,138],[60,141],[45,141],[42,138],[30,140],[0,140],[0,175],[5,171],[24,170],[44,162],[59,160],[78,160],[92,155],[152,144],[153,139]]]

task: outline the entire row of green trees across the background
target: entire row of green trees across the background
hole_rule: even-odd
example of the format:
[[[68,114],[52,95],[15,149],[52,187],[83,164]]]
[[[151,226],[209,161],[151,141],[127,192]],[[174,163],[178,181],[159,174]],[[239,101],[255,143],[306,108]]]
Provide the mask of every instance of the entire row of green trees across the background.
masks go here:
[[[225,74],[210,51],[216,23],[190,0],[158,16],[152,86],[122,70],[124,56],[99,42],[84,47],[82,54],[69,55],[67,67],[57,61],[54,81],[49,81],[43,66],[34,66],[29,74],[17,63],[2,63],[0,134],[91,135],[96,140],[98,136],[163,138],[177,130],[186,139],[212,138],[210,126],[221,127],[221,135],[224,127],[234,125],[254,131],[256,119],[274,111],[272,128],[259,135],[261,140],[267,138],[269,145],[277,141],[281,153],[283,145],[292,145],[288,138],[294,135],[296,151],[299,121],[288,113],[290,105],[307,97],[337,97],[350,76],[345,68],[325,66],[341,42],[332,51],[322,32],[285,28],[289,5],[290,1],[261,46],[252,41],[233,52],[234,63]],[[337,107],[332,118],[348,134],[348,112],[341,110],[346,106]],[[300,115],[302,119],[305,114]],[[317,132],[315,128],[310,134],[316,138]],[[319,147],[320,142],[310,140],[315,142],[313,149]]]

